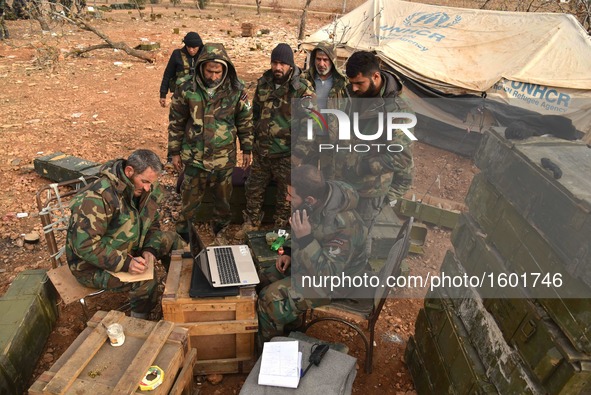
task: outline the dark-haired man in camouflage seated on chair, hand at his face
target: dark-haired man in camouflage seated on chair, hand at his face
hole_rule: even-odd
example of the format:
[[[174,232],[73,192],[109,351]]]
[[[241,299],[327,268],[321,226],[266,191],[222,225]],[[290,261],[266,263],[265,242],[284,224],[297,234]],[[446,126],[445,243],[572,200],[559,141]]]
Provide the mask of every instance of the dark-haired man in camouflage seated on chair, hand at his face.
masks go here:
[[[329,289],[304,289],[298,278],[353,277],[368,269],[367,231],[355,211],[357,193],[351,186],[325,181],[317,167],[302,165],[292,170],[287,198],[294,209],[289,220],[294,238],[291,250],[260,272],[264,287],[257,305],[260,345],[283,335],[285,326],[298,323],[307,309],[347,295],[346,290],[337,295]]]

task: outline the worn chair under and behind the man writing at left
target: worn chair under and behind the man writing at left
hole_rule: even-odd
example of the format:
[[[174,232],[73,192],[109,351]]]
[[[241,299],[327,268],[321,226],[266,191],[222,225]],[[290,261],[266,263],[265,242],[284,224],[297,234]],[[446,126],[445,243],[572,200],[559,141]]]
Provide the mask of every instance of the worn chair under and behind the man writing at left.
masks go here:
[[[71,197],[84,190],[97,177],[80,177],[75,180],[47,184],[37,191],[37,208],[43,225],[43,233],[49,250],[52,269],[47,276],[66,305],[79,301],[86,321],[90,318],[86,299],[100,295],[105,290],[85,287],[70,271],[64,252],[66,230],[70,220]],[[120,308],[121,309],[121,308]]]

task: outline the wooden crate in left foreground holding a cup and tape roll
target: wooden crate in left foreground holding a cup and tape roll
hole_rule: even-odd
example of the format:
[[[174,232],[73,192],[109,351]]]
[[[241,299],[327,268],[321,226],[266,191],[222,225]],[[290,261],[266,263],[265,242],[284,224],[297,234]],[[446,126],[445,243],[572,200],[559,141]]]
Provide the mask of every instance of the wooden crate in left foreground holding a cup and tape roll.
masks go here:
[[[105,326],[123,326],[125,342],[111,346]],[[164,380],[150,394],[190,393],[196,351],[188,331],[166,321],[146,321],[120,311],[98,311],[64,354],[29,388],[29,395],[144,394],[138,386],[148,368],[159,366]]]

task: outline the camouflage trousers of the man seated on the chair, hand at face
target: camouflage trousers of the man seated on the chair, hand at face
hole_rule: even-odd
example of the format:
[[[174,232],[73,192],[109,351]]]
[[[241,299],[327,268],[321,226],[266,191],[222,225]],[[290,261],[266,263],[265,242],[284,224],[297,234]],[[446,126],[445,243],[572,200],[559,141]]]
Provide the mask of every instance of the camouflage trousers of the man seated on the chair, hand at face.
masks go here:
[[[330,303],[330,299],[305,299],[292,286],[291,276],[280,273],[275,265],[261,270],[259,277],[262,284],[269,284],[259,292],[257,301],[261,346],[275,336],[284,335],[286,327],[295,329],[308,309]]]

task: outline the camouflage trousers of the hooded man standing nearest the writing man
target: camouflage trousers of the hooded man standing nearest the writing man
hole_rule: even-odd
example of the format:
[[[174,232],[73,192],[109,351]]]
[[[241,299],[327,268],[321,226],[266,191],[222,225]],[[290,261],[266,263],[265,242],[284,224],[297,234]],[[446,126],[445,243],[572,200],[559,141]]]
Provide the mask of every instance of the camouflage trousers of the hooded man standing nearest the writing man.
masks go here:
[[[232,217],[230,198],[232,196],[233,167],[213,171],[205,171],[195,166],[185,168],[185,179],[181,186],[181,215],[176,223],[179,234],[189,232],[188,222],[198,222],[197,211],[207,188],[213,194],[213,227],[220,231],[225,228]]]

